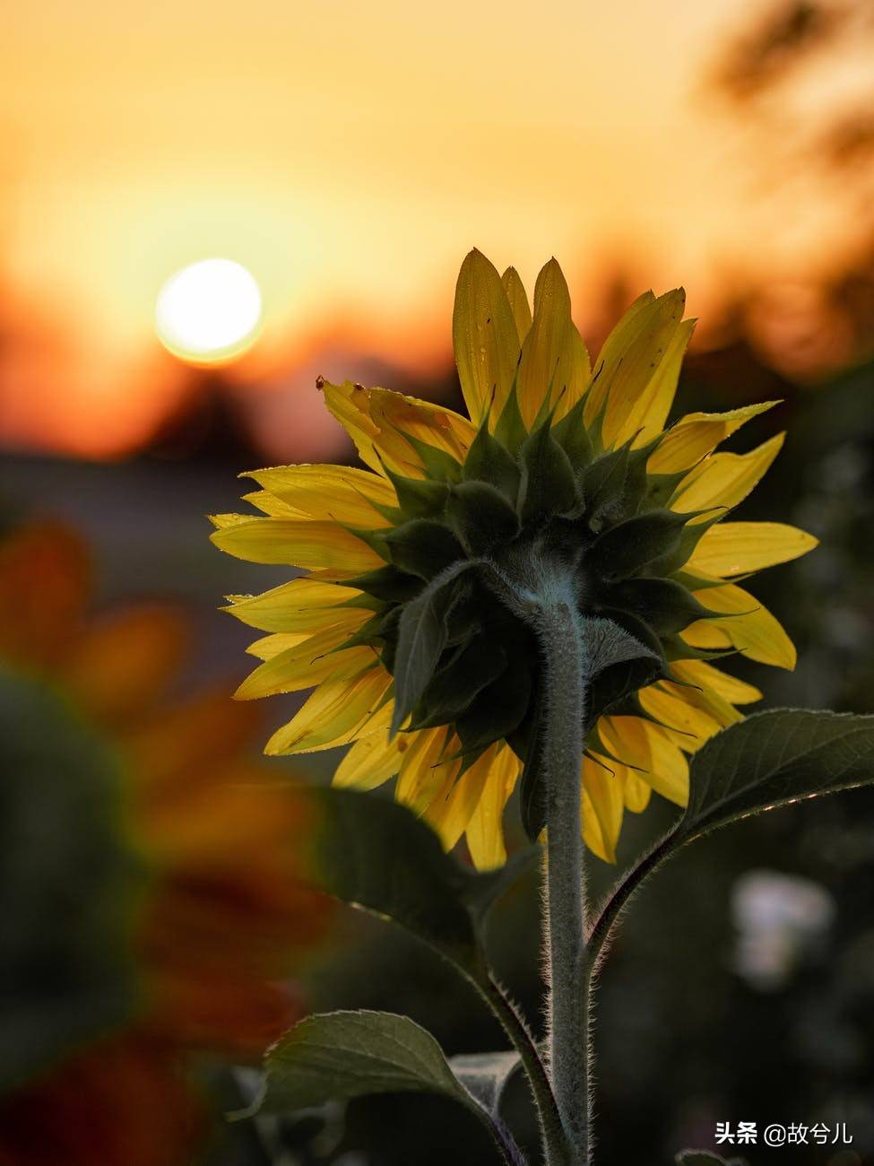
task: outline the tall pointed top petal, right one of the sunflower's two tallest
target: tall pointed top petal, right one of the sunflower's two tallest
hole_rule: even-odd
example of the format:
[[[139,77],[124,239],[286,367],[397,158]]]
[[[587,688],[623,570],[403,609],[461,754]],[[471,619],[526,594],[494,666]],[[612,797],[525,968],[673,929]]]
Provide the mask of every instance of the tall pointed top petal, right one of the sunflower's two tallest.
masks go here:
[[[534,322],[519,361],[519,408],[530,427],[544,402],[561,400],[568,413],[590,379],[588,353],[571,319],[571,297],[562,268],[550,261],[537,276]]]

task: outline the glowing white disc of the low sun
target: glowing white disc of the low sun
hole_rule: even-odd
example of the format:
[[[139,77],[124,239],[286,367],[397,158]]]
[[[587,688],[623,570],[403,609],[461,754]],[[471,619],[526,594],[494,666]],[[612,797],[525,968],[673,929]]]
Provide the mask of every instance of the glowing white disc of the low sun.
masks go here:
[[[192,364],[233,360],[255,342],[260,322],[258,283],[232,259],[183,267],[161,288],[155,305],[158,339]]]

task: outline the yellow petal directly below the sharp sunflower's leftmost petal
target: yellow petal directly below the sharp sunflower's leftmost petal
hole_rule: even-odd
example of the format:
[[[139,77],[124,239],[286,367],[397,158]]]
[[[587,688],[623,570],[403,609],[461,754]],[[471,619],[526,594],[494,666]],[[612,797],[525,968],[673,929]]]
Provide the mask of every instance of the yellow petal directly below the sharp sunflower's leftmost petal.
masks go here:
[[[354,588],[303,576],[263,595],[231,596],[231,605],[223,610],[262,632],[317,632],[346,618],[350,626],[360,627],[373,612],[345,606],[360,597]]]

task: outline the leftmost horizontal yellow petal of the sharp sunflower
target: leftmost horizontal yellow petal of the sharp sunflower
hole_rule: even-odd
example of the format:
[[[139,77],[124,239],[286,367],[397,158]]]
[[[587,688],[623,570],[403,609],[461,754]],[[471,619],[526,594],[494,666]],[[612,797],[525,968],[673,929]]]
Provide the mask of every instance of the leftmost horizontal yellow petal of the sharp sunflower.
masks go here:
[[[227,518],[238,521],[226,524]],[[221,522],[211,535],[216,546],[252,563],[336,567],[353,574],[385,567],[367,543],[334,522],[225,514],[216,515],[216,520]]]

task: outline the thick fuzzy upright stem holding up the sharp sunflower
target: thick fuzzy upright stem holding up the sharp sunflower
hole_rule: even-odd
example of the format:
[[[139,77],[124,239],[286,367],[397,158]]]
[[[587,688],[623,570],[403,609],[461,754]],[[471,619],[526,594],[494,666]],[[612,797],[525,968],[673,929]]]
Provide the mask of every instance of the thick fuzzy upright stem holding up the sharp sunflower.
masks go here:
[[[582,835],[586,658],[570,588],[538,605],[544,659],[541,765],[547,793],[545,956],[549,1065],[571,1166],[590,1163],[585,845]]]

